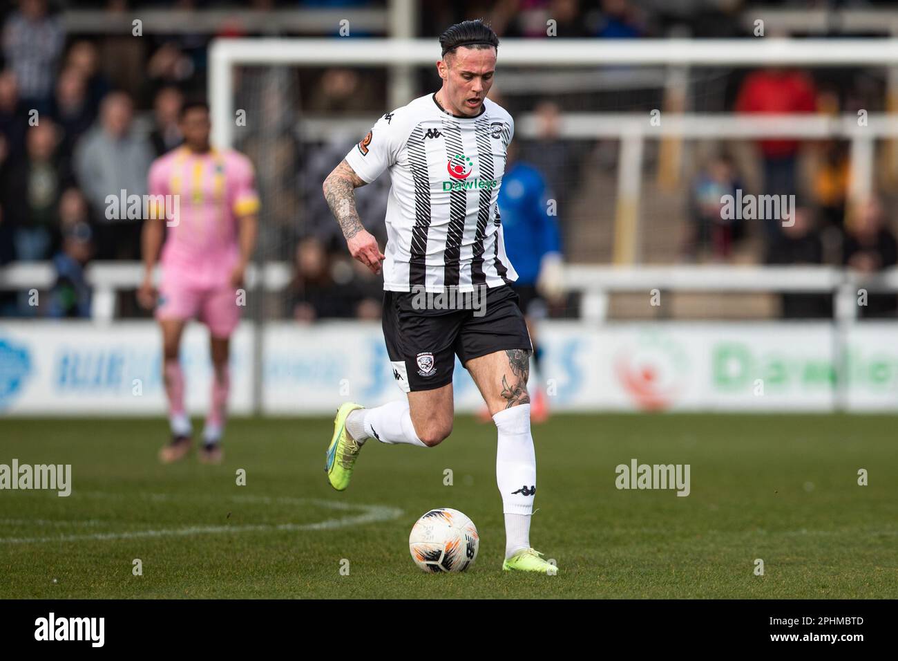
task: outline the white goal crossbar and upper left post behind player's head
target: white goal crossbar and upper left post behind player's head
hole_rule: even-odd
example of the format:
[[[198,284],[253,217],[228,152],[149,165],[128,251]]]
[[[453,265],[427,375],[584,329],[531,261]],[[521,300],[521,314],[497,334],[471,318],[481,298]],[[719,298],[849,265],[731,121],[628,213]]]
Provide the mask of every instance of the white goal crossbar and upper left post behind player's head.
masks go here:
[[[898,66],[898,39],[522,40],[500,45],[509,66],[612,67],[700,65],[801,67]],[[295,65],[407,67],[440,58],[435,40],[409,39],[216,39],[209,47],[208,98],[216,144],[233,139],[233,67]],[[588,72],[585,72],[588,75]],[[401,81],[392,81],[393,89]],[[388,105],[409,102],[391,91]]]

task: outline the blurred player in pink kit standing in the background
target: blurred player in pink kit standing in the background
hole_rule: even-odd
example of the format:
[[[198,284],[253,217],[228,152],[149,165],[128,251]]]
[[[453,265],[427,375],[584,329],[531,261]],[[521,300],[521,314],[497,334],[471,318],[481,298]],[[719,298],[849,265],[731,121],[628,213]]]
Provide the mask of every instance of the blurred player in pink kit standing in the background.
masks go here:
[[[157,158],[149,174],[153,208],[144,224],[145,276],[137,295],[146,308],[155,308],[163,332],[163,379],[172,428],[172,441],[159,452],[163,463],[182,459],[192,442],[179,359],[180,338],[192,318],[209,328],[213,367],[199,459],[218,463],[223,458],[230,338],[240,322],[243,276],[256,243],[259,195],[250,159],[211,147],[210,129],[208,106],[186,104],[180,112],[184,144]],[[160,246],[163,275],[157,292],[153,269]]]

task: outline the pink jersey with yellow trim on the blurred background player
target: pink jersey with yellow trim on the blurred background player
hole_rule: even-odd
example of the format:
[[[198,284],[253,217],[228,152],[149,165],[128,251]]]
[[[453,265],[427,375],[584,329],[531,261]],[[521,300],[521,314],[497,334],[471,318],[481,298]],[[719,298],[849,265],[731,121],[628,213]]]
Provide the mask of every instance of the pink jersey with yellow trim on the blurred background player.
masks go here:
[[[150,195],[172,196],[166,206],[178,211],[166,222],[163,269],[207,285],[226,281],[240,257],[237,220],[259,210],[254,180],[250,159],[231,149],[178,147],[157,158]]]

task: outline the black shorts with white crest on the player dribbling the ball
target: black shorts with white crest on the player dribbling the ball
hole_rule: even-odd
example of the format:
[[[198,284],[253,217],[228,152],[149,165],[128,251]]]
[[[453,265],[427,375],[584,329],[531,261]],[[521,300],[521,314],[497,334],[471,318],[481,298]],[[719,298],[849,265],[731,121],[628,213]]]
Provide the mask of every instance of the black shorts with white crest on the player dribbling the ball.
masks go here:
[[[384,291],[383,339],[393,378],[404,392],[452,383],[456,355],[465,365],[506,349],[533,351],[517,294],[508,285],[444,299]]]

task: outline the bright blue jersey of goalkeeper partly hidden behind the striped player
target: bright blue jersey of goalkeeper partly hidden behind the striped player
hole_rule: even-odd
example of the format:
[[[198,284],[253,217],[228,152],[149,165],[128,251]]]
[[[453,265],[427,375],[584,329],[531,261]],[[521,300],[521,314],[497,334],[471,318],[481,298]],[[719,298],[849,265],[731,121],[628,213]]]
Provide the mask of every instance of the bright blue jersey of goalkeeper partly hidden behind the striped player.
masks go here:
[[[517,284],[535,284],[542,256],[561,252],[559,228],[555,217],[549,215],[548,197],[546,182],[532,165],[515,161],[502,179],[498,206],[506,254],[515,264]]]

